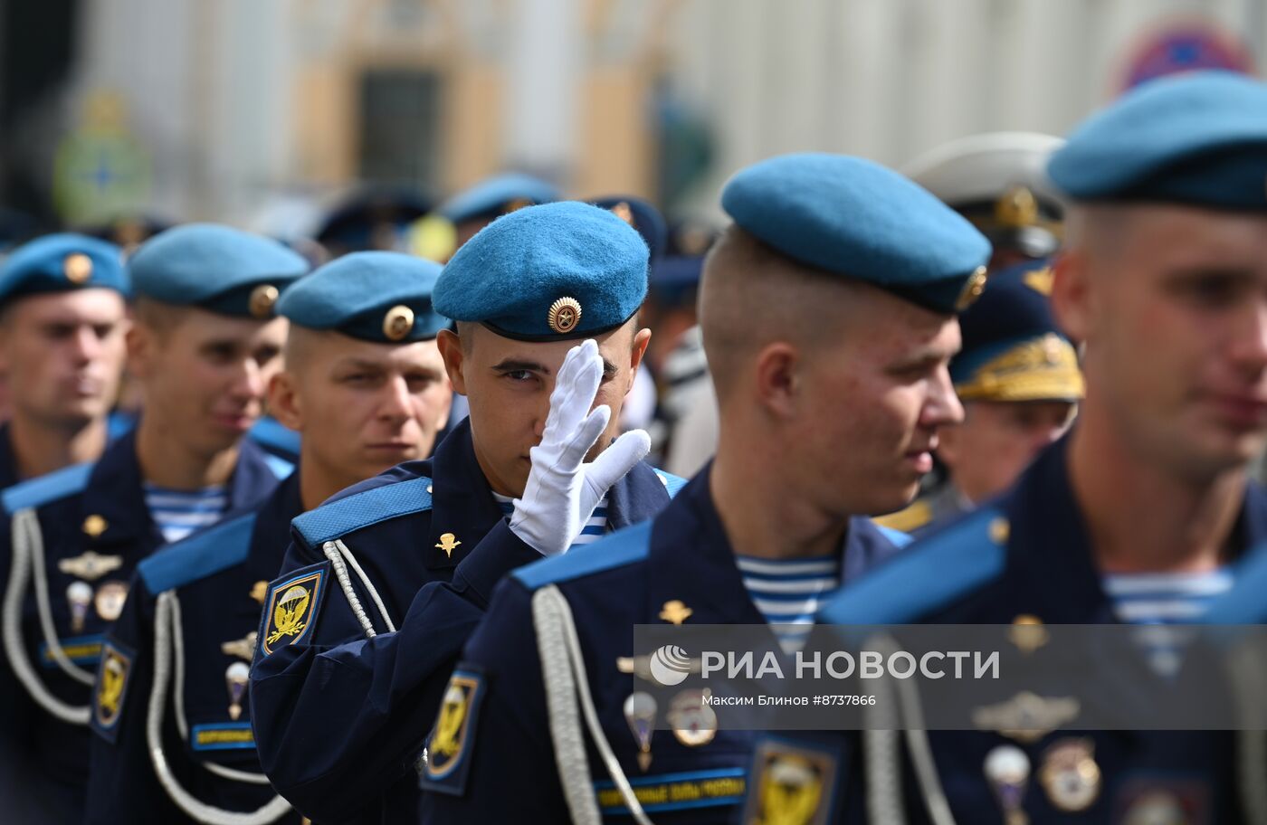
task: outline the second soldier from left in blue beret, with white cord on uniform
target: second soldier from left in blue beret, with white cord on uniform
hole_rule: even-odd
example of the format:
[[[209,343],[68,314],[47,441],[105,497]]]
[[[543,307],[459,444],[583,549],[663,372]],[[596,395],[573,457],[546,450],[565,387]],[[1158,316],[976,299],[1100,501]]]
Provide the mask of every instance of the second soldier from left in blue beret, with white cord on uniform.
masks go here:
[[[128,362],[146,411],[95,463],[4,490],[6,739],[32,754],[5,776],[44,812],[84,817],[87,725],[109,724],[120,693],[94,702],[100,667],[111,687],[133,651],[103,648],[137,563],[160,545],[266,498],[289,473],[243,435],[277,371],[285,321],[277,294],[304,272],[281,245],[210,224],[151,238],[128,261],[136,318]],[[16,784],[20,783],[20,784]]]

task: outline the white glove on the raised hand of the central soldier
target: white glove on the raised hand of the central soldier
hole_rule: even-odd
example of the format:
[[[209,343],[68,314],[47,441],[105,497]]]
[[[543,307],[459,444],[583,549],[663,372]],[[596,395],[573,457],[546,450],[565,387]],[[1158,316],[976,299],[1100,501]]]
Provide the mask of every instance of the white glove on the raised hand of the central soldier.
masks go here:
[[[589,409],[602,380],[598,343],[585,341],[569,350],[550,393],[541,444],[528,452],[532,470],[523,498],[514,499],[511,530],[542,555],[565,553],[612,484],[651,449],[645,431],[631,430],[585,463],[612,416],[606,404]]]

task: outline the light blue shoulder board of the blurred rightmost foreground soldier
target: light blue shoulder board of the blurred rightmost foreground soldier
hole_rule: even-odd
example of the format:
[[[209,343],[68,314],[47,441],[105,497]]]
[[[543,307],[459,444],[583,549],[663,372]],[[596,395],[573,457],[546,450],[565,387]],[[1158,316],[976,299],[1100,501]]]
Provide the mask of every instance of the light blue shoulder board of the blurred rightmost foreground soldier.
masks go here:
[[[1006,556],[1007,521],[1001,511],[982,507],[845,587],[820,618],[831,625],[915,622],[998,578]]]

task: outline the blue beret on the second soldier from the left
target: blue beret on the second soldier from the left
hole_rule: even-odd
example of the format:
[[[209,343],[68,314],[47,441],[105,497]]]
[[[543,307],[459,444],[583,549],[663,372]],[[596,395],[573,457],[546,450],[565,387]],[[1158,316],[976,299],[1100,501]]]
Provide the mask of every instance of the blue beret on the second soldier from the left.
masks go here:
[[[271,317],[280,291],[307,271],[277,241],[214,223],[160,232],[128,260],[138,295],[247,318]]]

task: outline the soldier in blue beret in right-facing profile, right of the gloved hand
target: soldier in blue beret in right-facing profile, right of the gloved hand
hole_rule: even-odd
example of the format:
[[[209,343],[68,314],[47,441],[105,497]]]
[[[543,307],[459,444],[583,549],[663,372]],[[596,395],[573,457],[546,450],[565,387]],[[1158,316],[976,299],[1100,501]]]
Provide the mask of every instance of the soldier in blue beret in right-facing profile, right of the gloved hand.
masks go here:
[[[424,822],[737,821],[760,782],[753,735],[718,730],[699,691],[658,707],[630,675],[634,626],[770,624],[792,651],[821,599],[905,540],[864,516],[915,496],[938,428],[962,416],[946,364],[990,243],[846,156],[756,163],[722,207],[734,224],[699,300],[716,460],[654,521],[500,585],[427,743]],[[598,725],[569,724],[564,703]]]

